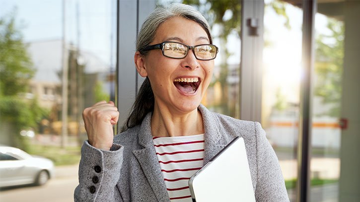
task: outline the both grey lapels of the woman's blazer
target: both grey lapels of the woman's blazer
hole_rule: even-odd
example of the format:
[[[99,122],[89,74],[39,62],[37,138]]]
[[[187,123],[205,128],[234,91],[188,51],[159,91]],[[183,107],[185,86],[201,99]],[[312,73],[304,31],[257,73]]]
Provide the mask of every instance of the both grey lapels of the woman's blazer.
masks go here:
[[[198,109],[200,110],[205,130],[205,145],[204,145],[204,165],[210,161],[217,152],[221,151],[225,145],[218,145],[221,136],[219,134],[219,125],[216,116],[213,112],[210,112],[204,105],[200,104]],[[143,119],[138,132],[139,144],[143,146],[143,149],[133,151],[136,158],[139,160],[140,165],[143,168],[144,174],[154,191],[156,198],[161,202],[169,202],[169,196],[166,191],[166,185],[163,175],[158,163],[158,159],[155,153],[155,148],[151,135],[151,116],[152,112],[149,112]]]

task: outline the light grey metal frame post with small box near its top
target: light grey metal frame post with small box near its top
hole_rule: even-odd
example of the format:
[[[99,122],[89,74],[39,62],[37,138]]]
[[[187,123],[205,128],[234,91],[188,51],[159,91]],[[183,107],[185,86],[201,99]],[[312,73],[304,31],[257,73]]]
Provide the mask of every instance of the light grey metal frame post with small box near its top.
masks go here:
[[[239,114],[242,120],[261,122],[264,0],[242,0],[241,10]]]

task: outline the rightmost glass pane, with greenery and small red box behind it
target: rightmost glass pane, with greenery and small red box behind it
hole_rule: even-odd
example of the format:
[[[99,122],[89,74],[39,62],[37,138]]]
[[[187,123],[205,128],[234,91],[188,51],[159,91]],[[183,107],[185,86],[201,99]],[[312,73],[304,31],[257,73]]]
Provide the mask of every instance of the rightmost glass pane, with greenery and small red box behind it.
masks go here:
[[[311,202],[359,201],[360,1],[318,1]]]

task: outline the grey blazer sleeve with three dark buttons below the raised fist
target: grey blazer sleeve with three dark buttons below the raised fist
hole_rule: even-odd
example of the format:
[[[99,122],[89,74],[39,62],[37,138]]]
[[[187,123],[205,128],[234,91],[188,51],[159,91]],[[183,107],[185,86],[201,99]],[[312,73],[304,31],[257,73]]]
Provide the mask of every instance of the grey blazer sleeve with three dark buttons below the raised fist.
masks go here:
[[[84,141],[79,164],[79,185],[75,202],[122,202],[116,186],[120,179],[124,147],[113,144],[110,151],[99,150]]]

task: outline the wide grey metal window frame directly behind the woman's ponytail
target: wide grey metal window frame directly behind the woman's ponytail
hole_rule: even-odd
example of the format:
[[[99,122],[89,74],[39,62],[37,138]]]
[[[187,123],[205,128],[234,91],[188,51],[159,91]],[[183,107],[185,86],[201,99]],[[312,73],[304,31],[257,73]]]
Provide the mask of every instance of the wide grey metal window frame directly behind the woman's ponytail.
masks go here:
[[[115,105],[120,112],[117,134],[130,113],[144,78],[134,64],[135,42],[144,19],[155,9],[155,0],[117,0],[117,57]],[[127,47],[122,49],[122,47]]]

